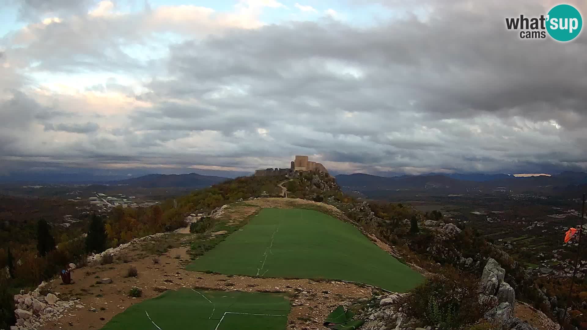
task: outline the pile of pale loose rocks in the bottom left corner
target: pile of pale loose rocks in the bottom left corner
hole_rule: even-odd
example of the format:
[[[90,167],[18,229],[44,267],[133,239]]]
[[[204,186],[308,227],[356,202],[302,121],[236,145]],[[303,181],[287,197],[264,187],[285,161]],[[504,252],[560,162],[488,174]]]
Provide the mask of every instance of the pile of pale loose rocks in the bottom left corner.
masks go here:
[[[62,318],[62,313],[68,308],[83,308],[79,299],[62,301],[57,297],[59,293],[41,295],[46,285],[46,282],[42,282],[35,291],[25,294],[21,290],[21,294],[14,295],[16,325],[11,326],[10,330],[38,329],[48,321]]]

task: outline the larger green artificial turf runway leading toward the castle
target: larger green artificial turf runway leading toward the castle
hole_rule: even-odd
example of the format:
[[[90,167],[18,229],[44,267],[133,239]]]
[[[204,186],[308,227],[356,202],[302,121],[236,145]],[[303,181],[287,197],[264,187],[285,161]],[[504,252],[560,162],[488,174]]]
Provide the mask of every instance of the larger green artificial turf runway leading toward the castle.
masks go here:
[[[191,271],[356,281],[395,292],[423,282],[416,271],[329,215],[264,208],[242,230],[187,265]]]

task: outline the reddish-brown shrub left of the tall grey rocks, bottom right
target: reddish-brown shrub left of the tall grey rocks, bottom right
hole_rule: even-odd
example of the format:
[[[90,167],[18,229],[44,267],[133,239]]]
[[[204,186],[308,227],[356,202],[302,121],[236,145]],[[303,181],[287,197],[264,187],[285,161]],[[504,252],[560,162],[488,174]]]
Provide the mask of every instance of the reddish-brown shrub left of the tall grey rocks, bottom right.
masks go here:
[[[456,271],[429,278],[404,298],[406,314],[426,324],[456,329],[481,317],[477,281]]]

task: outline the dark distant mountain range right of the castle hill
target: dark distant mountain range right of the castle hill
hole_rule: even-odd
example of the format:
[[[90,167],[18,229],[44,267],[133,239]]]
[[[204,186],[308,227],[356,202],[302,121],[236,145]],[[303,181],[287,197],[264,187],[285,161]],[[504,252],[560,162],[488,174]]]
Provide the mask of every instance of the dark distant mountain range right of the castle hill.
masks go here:
[[[339,174],[339,186],[346,190],[443,190],[464,193],[470,190],[576,190],[587,184],[587,173],[566,171],[553,176],[515,177],[507,174],[427,174],[380,177],[370,174]]]

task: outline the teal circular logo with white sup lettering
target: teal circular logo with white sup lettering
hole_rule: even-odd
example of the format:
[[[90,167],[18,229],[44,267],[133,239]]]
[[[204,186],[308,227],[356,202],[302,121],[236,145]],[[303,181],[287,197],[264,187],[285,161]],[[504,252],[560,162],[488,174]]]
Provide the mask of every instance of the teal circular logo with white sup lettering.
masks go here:
[[[546,31],[555,40],[571,41],[581,32],[581,13],[571,5],[558,5],[548,12]]]

